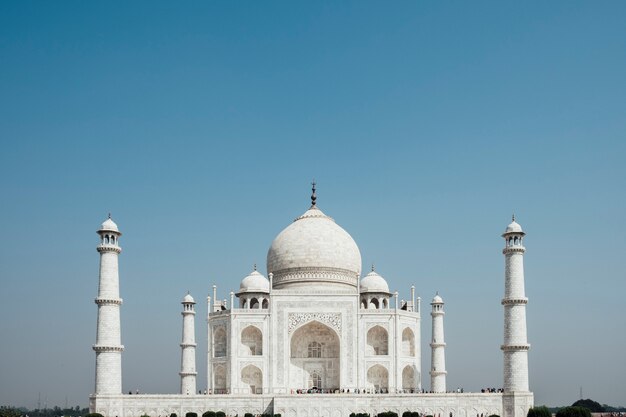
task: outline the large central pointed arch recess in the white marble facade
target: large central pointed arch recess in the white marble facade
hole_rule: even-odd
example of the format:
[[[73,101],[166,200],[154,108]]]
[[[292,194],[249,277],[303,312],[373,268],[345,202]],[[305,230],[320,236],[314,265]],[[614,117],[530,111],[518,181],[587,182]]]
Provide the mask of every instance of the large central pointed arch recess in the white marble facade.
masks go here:
[[[341,347],[332,328],[311,321],[293,332],[289,345],[291,389],[339,388]]]

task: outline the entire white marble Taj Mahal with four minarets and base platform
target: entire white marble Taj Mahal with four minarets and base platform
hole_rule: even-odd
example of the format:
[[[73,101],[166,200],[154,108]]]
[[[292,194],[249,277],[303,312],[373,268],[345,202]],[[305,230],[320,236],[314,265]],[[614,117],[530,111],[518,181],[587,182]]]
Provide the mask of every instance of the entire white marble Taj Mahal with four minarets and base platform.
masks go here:
[[[180,391],[122,392],[118,257],[120,232],[109,216],[98,230],[100,276],[95,391],[91,412],[105,417],[166,417],[223,411],[295,417],[416,411],[436,417],[525,417],[528,383],[523,246],[513,221],[504,238],[502,390],[458,392],[446,386],[444,301],[430,302],[430,369],[421,368],[421,300],[399,300],[374,267],[361,271],[352,237],[317,205],[282,230],[267,253],[267,275],[254,270],[237,291],[206,299],[207,386],[196,384],[196,303],[182,300]],[[369,270],[369,268],[368,268]],[[132,301],[129,301],[132,302]],[[493,341],[498,344],[498,341]],[[429,379],[429,390],[423,389]]]

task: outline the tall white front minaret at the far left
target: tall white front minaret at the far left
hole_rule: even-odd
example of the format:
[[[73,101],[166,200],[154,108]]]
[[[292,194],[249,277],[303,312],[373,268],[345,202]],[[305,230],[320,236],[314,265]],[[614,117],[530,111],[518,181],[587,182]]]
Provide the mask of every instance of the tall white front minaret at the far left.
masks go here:
[[[122,252],[117,225],[109,218],[100,230],[100,281],[98,297],[98,329],[96,344],[96,394],[122,393],[122,351],[120,336],[120,305],[118,255]]]

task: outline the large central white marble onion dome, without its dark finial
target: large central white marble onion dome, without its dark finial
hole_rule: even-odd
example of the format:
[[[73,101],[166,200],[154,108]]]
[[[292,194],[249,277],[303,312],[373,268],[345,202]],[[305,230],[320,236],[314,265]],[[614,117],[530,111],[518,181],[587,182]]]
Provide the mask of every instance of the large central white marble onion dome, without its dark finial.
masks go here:
[[[348,232],[314,204],[276,236],[267,253],[267,272],[273,274],[274,288],[356,288],[361,253]]]

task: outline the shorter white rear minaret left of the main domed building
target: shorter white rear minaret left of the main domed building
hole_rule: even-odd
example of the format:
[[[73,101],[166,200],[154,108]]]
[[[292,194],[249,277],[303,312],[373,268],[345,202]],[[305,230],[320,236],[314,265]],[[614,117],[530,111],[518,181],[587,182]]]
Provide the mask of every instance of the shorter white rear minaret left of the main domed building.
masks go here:
[[[194,304],[196,302],[190,294],[183,298],[183,340],[180,360],[180,393],[195,394],[196,392],[196,332]]]

